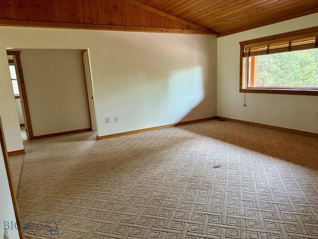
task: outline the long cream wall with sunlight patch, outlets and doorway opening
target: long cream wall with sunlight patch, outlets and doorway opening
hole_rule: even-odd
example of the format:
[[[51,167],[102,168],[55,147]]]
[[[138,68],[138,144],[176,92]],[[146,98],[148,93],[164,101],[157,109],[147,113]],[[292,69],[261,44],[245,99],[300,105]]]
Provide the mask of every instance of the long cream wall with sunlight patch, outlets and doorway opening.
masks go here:
[[[12,91],[5,47],[89,48],[98,135],[216,116],[214,35],[4,26],[0,34],[1,92]],[[0,94],[0,113],[12,118],[3,120],[5,137],[8,146],[18,150],[21,136],[14,105],[2,106],[11,98],[10,93]],[[199,107],[189,113],[195,105]],[[111,123],[105,123],[106,117]]]

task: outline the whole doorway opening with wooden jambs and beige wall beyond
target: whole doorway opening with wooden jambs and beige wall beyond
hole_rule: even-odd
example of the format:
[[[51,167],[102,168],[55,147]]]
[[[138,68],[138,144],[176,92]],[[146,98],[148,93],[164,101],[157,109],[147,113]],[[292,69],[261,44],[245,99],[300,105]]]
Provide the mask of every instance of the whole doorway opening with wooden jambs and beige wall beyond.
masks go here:
[[[19,49],[7,55],[17,78],[23,139],[97,130],[88,50]]]

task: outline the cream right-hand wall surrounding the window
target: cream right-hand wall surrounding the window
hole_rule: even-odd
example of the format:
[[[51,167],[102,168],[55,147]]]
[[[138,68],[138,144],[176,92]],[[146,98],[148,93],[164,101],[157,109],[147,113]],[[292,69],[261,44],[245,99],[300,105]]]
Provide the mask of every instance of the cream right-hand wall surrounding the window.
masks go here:
[[[318,97],[239,93],[239,42],[318,25],[318,13],[218,38],[220,117],[318,133]]]

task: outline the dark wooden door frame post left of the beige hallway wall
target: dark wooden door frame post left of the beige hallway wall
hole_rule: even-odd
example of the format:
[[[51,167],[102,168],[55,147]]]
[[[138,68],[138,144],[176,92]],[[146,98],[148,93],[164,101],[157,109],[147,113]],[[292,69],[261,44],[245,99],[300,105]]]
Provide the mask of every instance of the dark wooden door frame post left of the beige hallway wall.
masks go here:
[[[19,85],[19,91],[20,91],[20,101],[22,103],[21,106],[22,106],[22,112],[24,117],[24,124],[26,128],[26,134],[28,139],[32,140],[34,139],[34,135],[32,130],[28,99],[26,96],[25,83],[24,83],[22,65],[20,60],[20,52],[21,51],[6,51],[6,55],[13,56],[13,62],[16,66],[16,71],[17,71],[18,85]]]

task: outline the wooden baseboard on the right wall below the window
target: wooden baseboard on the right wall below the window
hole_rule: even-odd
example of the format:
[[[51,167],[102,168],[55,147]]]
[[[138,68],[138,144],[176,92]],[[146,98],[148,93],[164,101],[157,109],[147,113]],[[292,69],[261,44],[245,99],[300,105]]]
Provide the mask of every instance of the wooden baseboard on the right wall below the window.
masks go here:
[[[231,118],[220,117],[220,116],[218,116],[217,118],[219,120],[222,120],[222,121],[231,121],[231,122],[236,122],[236,123],[248,124],[248,125],[252,125],[252,126],[274,129],[274,130],[278,130],[278,131],[295,133],[295,134],[300,134],[300,135],[304,135],[304,136],[318,138],[318,133],[313,133],[313,132],[307,132],[307,131],[302,131],[302,130],[297,130],[297,129],[292,129],[292,128],[284,128],[284,127],[279,127],[279,126],[274,126],[274,125],[269,125],[269,124],[264,124],[264,123],[250,122],[250,121],[245,121],[245,120],[240,120],[240,119],[231,119]]]

